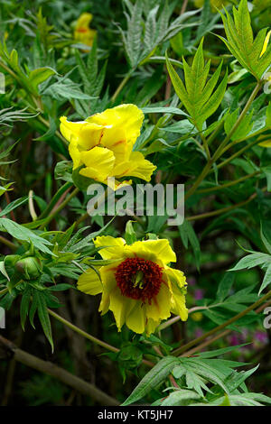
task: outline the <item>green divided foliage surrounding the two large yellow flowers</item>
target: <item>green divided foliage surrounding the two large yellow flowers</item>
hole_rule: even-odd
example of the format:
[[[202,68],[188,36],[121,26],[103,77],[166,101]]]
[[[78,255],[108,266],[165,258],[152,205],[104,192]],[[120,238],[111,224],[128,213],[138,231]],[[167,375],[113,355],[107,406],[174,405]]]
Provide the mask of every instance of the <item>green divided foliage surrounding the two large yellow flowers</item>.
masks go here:
[[[248,308],[268,301],[271,282],[270,44],[261,56],[271,4],[224,2],[223,13],[202,3],[0,5],[0,334],[125,404],[270,403],[270,330],[263,309],[254,310],[264,302]],[[89,51],[73,39],[83,12],[98,33]],[[167,217],[128,226],[129,217],[85,217],[85,189],[66,202],[73,180],[60,116],[79,121],[122,103],[145,112],[135,150],[157,166],[152,182],[185,184],[182,226],[167,226]],[[188,280],[188,321],[147,338],[101,318],[97,297],[76,290],[100,260],[98,234],[169,239]],[[23,268],[22,277],[14,264],[25,267],[29,256],[38,271]],[[48,308],[120,350],[83,338]],[[218,326],[225,334],[201,346]],[[195,357],[179,356],[197,346]],[[105,404],[15,362],[1,339],[0,359],[3,405]]]

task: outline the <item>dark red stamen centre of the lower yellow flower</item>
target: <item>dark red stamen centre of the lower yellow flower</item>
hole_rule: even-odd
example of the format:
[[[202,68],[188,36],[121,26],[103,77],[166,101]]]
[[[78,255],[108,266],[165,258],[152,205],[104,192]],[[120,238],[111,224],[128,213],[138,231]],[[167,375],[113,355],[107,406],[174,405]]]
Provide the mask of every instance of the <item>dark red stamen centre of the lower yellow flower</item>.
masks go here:
[[[151,303],[159,293],[163,268],[147,259],[127,258],[117,266],[115,277],[123,296]]]

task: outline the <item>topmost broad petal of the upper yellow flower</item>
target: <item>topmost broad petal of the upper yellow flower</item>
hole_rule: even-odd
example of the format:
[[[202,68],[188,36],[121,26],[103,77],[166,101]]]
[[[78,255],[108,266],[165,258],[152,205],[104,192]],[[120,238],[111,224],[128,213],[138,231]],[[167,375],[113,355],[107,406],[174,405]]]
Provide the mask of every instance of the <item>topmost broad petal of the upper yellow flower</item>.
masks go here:
[[[134,144],[140,135],[144,113],[137,106],[127,104],[112,107],[101,114],[89,116],[87,121],[89,123],[111,125],[112,128],[118,128],[125,133],[126,142]]]

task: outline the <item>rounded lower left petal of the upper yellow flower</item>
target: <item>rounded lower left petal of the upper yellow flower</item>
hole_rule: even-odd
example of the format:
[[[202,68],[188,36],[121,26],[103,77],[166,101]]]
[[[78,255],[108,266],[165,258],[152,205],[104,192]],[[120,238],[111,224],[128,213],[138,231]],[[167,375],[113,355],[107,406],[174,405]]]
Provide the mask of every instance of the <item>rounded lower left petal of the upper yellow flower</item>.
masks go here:
[[[114,153],[104,147],[93,147],[88,152],[80,152],[80,159],[86,165],[79,173],[84,177],[103,182],[113,170]]]

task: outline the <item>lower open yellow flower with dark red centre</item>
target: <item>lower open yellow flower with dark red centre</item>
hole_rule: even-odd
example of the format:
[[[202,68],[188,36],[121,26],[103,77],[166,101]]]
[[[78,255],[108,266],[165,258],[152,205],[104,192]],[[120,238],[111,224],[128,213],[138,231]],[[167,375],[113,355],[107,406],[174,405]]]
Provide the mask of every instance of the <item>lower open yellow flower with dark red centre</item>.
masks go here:
[[[127,245],[123,238],[103,235],[94,244],[105,260],[113,263],[89,268],[80,275],[78,288],[90,295],[102,293],[99,311],[111,310],[118,331],[124,324],[135,333],[150,335],[171,313],[188,317],[183,272],[168,263],[176,262],[168,240],[145,240]]]

